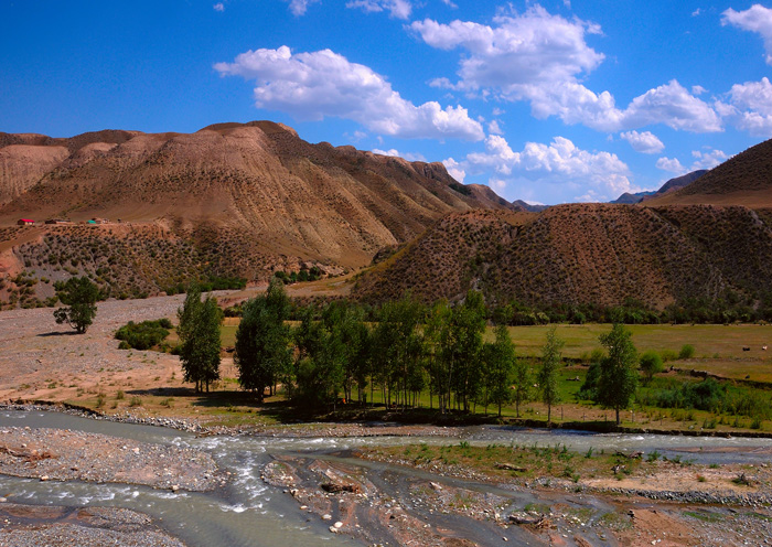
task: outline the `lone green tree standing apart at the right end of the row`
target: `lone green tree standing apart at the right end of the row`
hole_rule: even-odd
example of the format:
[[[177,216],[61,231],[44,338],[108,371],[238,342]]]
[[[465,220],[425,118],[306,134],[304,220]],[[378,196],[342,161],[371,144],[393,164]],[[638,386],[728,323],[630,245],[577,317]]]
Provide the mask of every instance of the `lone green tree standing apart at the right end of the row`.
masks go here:
[[[616,411],[616,425],[620,425],[619,411],[630,405],[637,388],[637,351],[628,331],[621,323],[614,323],[611,332],[600,335],[600,343],[608,355],[600,362],[598,378],[598,403]]]

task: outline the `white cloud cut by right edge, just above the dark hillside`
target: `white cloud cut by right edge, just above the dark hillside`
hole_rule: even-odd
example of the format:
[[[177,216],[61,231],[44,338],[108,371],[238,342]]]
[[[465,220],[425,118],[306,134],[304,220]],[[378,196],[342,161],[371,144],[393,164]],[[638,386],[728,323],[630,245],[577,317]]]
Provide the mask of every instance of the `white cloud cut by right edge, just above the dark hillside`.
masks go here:
[[[727,95],[729,103],[717,105],[722,116],[754,137],[772,137],[772,84],[769,78],[735,84]]]

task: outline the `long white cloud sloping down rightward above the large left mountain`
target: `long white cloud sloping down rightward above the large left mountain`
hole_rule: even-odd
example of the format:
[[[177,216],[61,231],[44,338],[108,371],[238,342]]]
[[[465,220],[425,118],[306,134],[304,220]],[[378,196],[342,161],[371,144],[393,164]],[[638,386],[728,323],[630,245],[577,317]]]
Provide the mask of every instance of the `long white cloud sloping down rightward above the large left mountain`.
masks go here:
[[[442,108],[436,101],[416,106],[369,67],[330,50],[297,54],[287,46],[248,51],[214,68],[222,75],[254,79],[258,108],[286,111],[298,119],[345,118],[403,138],[484,137],[482,125],[465,108]]]

